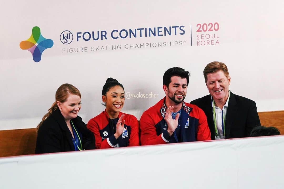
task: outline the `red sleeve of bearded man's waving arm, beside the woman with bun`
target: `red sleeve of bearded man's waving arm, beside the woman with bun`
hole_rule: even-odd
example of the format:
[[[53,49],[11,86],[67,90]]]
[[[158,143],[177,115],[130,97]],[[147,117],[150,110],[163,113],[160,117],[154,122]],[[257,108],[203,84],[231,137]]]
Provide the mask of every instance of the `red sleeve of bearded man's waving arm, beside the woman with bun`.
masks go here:
[[[166,141],[164,141],[164,139],[162,139],[163,133],[157,136],[154,120],[147,112],[144,112],[140,118],[140,129],[141,145],[156,145],[167,143]]]

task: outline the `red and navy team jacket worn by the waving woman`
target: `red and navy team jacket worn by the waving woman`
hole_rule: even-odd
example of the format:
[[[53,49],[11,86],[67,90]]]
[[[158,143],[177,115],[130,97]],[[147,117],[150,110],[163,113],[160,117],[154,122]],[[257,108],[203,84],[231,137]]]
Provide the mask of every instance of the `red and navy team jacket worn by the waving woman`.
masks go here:
[[[119,112],[118,118],[122,114],[125,113]],[[97,149],[139,145],[137,118],[133,115],[125,114],[124,120],[124,130],[118,139],[114,137],[117,120],[116,122],[111,120],[106,110],[89,120],[87,128],[95,135]]]

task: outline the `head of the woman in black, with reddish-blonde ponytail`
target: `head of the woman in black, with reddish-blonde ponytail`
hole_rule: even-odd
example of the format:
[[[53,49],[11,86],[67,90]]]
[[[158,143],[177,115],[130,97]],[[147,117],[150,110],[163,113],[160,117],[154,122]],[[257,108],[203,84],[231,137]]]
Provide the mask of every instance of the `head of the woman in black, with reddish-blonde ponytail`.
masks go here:
[[[76,118],[81,109],[80,91],[71,84],[62,84],[55,93],[55,102],[48,109],[47,114],[43,116],[42,121],[37,126],[37,130],[56,109],[60,110],[65,120]]]

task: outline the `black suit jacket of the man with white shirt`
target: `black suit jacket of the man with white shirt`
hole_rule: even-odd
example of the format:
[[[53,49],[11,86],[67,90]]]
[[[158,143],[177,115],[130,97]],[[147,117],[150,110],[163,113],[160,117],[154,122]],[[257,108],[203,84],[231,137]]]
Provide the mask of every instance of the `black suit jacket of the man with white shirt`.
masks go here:
[[[197,105],[205,112],[211,139],[215,140],[211,95],[191,101],[191,104]],[[256,103],[231,92],[225,120],[226,139],[249,137],[251,130],[256,126],[260,126]]]

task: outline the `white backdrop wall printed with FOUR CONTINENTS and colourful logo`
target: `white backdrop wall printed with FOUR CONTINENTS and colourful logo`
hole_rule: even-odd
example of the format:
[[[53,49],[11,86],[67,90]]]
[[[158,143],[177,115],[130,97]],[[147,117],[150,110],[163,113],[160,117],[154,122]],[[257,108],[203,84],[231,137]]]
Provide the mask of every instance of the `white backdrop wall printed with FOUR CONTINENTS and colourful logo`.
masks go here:
[[[209,94],[202,71],[224,62],[230,90],[258,111],[283,110],[283,1],[7,1],[1,4],[0,130],[34,128],[63,83],[83,121],[104,110],[106,78],[138,119],[164,97],[170,67],[190,71],[185,101]]]

